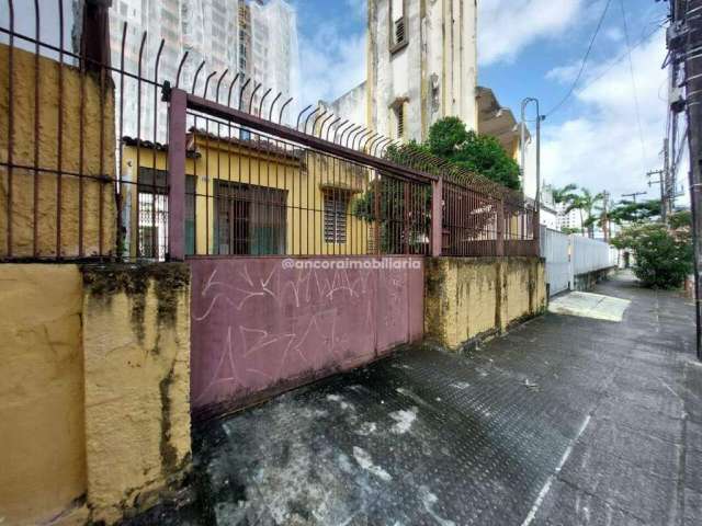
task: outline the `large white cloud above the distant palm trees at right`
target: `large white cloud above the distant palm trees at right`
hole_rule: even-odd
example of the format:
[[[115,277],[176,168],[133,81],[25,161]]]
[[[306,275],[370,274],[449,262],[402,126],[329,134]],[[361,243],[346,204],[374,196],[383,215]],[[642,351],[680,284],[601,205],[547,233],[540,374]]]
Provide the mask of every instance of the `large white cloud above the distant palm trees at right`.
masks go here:
[[[620,48],[615,56],[623,50]],[[589,69],[582,88],[575,93],[581,105],[579,116],[561,125],[546,122],[544,126],[546,182],[609,190],[614,198],[647,188],[645,172],[661,164],[666,105],[659,92],[667,77],[660,68],[665,55],[661,32],[632,53],[642,134],[629,61],[595,64]],[[649,194],[655,196],[656,192],[654,187]]]

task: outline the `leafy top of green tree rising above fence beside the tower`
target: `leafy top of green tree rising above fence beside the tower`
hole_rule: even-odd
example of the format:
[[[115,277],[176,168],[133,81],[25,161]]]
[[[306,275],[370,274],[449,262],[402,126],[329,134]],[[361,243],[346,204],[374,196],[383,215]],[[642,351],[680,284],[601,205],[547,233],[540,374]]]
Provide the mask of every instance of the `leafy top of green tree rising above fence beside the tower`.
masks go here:
[[[508,188],[520,190],[520,169],[495,137],[467,130],[457,117],[445,117],[429,129],[426,151],[479,173]]]

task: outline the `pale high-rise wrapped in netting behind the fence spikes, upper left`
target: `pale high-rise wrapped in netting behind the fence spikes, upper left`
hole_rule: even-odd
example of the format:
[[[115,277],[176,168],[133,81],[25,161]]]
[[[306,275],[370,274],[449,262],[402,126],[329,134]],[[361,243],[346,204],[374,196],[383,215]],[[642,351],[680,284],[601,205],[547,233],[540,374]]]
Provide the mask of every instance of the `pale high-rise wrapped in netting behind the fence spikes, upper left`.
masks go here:
[[[125,22],[124,69],[131,73],[139,72],[141,35],[146,32],[140,61],[141,77],[154,78],[162,39],[159,81],[176,80],[180,60],[188,53],[180,77],[180,85],[188,90],[192,88],[195,73],[204,60],[197,91],[204,90],[204,79],[213,71],[217,72],[218,78],[228,70],[226,85],[236,73],[240,73],[251,79],[251,88],[261,83],[261,94],[270,88],[273,93],[280,91],[285,96],[293,96],[297,20],[295,10],[285,0],[114,0],[110,10],[110,36],[112,62],[118,69],[122,68]],[[124,104],[117,133],[149,140],[166,140],[166,108],[158,103],[160,95],[155,94],[154,87],[118,75],[114,76],[114,81],[116,100],[122,100]],[[210,83],[210,99],[215,96],[215,85],[216,82]],[[122,89],[123,98],[120,96]],[[139,91],[140,116],[137,112]],[[224,101],[224,90],[219,96]],[[273,96],[265,102],[272,100]],[[235,102],[236,99],[233,100]],[[258,102],[254,101],[256,108]]]

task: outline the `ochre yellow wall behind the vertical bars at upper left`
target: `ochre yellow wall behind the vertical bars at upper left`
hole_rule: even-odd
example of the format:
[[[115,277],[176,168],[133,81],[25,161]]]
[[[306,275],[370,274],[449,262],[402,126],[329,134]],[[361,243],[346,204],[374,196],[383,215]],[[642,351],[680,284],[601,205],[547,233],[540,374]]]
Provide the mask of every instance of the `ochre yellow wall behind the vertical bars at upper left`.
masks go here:
[[[10,76],[7,64],[9,48],[0,44],[0,161],[9,160],[9,88]],[[100,174],[114,178],[114,95],[112,82],[105,80],[101,104],[100,81],[94,75],[81,76],[79,70],[70,66],[63,69],[55,60],[39,57],[38,79],[35,75],[35,55],[22,49],[13,49],[13,129],[12,162],[31,167],[12,170],[12,253],[14,256],[30,258],[34,255],[34,192],[35,176],[38,180],[37,205],[37,249],[39,256],[56,256],[57,235],[57,181],[56,173],[33,170],[38,167],[45,170],[58,170],[58,114],[59,114],[59,70],[63,70],[63,156],[64,173],[82,173],[98,176]],[[81,88],[82,81],[82,88]],[[35,162],[34,125],[35,98],[34,87],[39,85],[39,148]],[[83,96],[83,150],[82,168],[80,151],[81,93]],[[104,110],[102,110],[104,107]],[[103,142],[101,148],[100,127],[103,122]],[[37,175],[35,175],[35,173]],[[8,249],[8,176],[9,169],[0,167],[0,258],[7,255]],[[64,256],[79,255],[79,203],[80,179],[65,174],[61,176],[61,242]],[[83,206],[83,254],[105,254],[115,245],[115,203],[114,183],[95,179],[82,179]],[[102,194],[102,249],[99,242],[100,208]]]

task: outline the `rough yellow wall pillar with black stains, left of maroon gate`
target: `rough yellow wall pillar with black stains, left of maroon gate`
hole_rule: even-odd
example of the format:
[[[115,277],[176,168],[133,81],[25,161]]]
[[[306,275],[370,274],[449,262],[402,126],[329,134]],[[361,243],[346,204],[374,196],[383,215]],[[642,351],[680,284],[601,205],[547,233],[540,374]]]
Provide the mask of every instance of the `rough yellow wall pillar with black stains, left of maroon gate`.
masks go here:
[[[93,521],[152,504],[190,461],[190,288],[182,264],[84,271]]]

